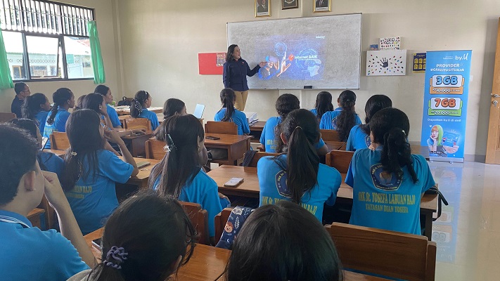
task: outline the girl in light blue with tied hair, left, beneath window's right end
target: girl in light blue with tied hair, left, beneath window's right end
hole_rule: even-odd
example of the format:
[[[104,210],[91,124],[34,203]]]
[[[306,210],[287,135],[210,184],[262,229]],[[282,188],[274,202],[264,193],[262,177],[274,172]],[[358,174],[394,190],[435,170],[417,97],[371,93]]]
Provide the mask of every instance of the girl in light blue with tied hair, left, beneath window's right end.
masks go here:
[[[51,148],[50,137],[53,131],[65,132],[66,121],[70,117],[68,110],[75,107],[75,95],[68,88],[60,88],[52,95],[54,104],[47,115],[44,128],[44,138],[49,138],[45,148]]]

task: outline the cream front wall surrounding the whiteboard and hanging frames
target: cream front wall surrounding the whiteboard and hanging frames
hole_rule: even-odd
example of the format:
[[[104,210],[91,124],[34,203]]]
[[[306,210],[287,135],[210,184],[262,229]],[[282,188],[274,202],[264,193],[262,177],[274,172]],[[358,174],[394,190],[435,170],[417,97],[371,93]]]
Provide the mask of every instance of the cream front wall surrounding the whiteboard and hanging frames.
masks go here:
[[[366,49],[379,37],[402,37],[409,59],[416,52],[472,49],[466,155],[485,155],[500,1],[335,0],[331,13],[312,13],[312,0],[299,3],[299,9],[281,11],[280,1],[272,0],[271,17],[255,18],[254,1],[249,0],[115,0],[124,95],[146,89],[153,94],[153,105],[181,98],[191,112],[195,103],[205,103],[204,117],[212,119],[220,108],[222,77],[199,75],[197,58],[198,53],[226,51],[226,22],[363,13],[361,89],[356,91],[361,117],[366,100],[383,93],[409,115],[410,141],[420,140],[424,74],[365,77]],[[245,58],[245,46],[241,49]],[[286,92],[290,91],[250,91],[245,110],[267,119],[276,114],[278,95]],[[314,105],[317,92],[293,91],[305,108]]]

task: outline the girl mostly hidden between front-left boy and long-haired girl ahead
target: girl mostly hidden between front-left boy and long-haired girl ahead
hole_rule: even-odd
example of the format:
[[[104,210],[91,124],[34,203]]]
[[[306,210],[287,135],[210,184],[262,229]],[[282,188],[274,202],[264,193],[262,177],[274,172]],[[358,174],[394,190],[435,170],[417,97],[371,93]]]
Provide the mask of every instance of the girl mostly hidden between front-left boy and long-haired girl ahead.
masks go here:
[[[28,131],[30,135],[37,140],[38,148],[41,148],[40,129],[38,129],[37,124],[33,120],[18,118],[12,119],[11,121],[9,121],[9,123]],[[37,161],[42,171],[51,171],[52,173],[56,173],[58,178],[62,176],[64,169],[64,160],[61,157],[58,157],[52,152],[39,150],[37,154]]]

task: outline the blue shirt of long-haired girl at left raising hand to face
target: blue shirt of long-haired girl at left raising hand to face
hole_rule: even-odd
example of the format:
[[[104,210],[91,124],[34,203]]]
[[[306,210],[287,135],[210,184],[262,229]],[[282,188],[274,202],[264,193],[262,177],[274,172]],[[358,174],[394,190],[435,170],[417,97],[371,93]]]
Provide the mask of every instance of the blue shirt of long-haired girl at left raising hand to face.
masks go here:
[[[115,182],[126,183],[134,171],[134,166],[123,162],[109,150],[98,150],[97,159],[96,181],[94,182],[94,175],[90,173],[86,181],[79,178],[75,187],[66,192],[84,235],[104,226],[105,220],[118,207]],[[84,169],[89,169],[86,159],[83,166]]]

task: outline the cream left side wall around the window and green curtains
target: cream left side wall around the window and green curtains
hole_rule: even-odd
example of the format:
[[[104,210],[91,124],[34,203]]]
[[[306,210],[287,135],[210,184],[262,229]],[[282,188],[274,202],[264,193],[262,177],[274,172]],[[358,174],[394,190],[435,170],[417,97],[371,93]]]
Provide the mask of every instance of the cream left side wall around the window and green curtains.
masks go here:
[[[96,21],[101,41],[106,83],[111,87],[113,95],[118,98],[122,94],[118,91],[117,57],[115,55],[115,16],[113,0],[68,0],[68,4],[75,4],[96,9]],[[75,100],[86,93],[91,93],[96,88],[93,80],[75,81],[44,81],[27,82],[32,93],[44,93],[52,102],[52,93],[57,89],[65,87],[75,93]],[[11,112],[11,103],[15,96],[14,89],[0,90],[0,112]],[[115,98],[116,99],[116,98]]]

